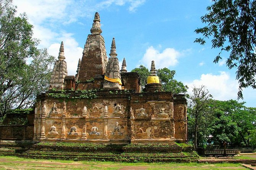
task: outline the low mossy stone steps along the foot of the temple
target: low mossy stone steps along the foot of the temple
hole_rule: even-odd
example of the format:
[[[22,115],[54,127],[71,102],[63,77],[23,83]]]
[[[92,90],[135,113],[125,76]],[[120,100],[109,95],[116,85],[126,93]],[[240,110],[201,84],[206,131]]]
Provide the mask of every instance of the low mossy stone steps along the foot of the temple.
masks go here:
[[[22,142],[21,142],[22,143]],[[177,144],[60,146],[56,143],[0,142],[0,155],[31,159],[92,160],[118,162],[196,162],[199,156],[193,151],[183,152]],[[30,144],[30,147],[28,147]],[[63,143],[62,143],[63,144]],[[66,144],[68,145],[68,144]]]

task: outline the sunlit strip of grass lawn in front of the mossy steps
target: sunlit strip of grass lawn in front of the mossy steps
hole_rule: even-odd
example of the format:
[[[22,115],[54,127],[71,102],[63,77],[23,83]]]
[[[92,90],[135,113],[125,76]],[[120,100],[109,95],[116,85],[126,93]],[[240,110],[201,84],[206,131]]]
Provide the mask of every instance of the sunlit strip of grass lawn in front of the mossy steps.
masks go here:
[[[120,163],[85,162],[71,160],[25,159],[13,156],[0,156],[1,170],[246,170],[240,164],[198,164],[198,163]]]

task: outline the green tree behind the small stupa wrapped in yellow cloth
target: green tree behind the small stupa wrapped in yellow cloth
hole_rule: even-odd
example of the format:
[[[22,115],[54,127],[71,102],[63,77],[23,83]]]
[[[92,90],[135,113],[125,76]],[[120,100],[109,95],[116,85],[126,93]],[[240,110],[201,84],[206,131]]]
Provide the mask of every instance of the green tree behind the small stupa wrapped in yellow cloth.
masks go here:
[[[141,77],[141,88],[143,89],[147,84],[147,77],[150,75],[149,70],[145,66],[140,65],[139,68],[135,68],[131,70],[131,72],[138,72]],[[167,68],[157,69],[156,74],[160,79],[160,83],[162,84],[164,91],[171,91],[173,94],[187,92],[188,86],[173,79],[175,70],[171,71]]]

